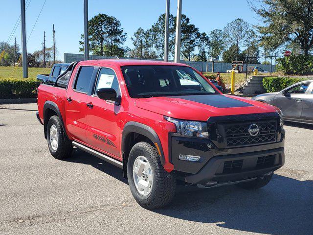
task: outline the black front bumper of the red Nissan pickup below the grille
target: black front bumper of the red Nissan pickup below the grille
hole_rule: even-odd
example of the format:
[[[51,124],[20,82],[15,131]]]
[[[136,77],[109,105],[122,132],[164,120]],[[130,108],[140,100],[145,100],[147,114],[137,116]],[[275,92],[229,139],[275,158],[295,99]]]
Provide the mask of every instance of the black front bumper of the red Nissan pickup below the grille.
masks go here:
[[[179,178],[190,184],[220,185],[262,177],[285,163],[284,131],[279,142],[224,149],[209,140],[170,138],[170,161]],[[198,162],[182,161],[179,154],[201,158]]]

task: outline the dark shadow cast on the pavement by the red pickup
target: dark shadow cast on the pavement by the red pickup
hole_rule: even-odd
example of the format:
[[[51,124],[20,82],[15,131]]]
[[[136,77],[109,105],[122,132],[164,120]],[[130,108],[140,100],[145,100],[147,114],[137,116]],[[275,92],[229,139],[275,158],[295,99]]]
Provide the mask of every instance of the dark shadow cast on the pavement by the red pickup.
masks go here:
[[[120,168],[80,149],[74,148],[72,157],[65,161],[89,164],[128,183]],[[266,187],[257,190],[236,186],[202,189],[178,185],[172,203],[153,211],[187,221],[215,223],[219,227],[238,231],[274,235],[312,234],[313,181],[275,174]]]

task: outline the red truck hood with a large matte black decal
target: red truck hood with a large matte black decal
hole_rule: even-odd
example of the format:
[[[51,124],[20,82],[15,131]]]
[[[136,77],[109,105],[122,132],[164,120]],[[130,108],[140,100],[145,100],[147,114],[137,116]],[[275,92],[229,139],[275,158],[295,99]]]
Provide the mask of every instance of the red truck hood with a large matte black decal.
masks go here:
[[[138,98],[138,108],[171,118],[206,121],[214,116],[275,112],[271,105],[233,95],[181,95]]]

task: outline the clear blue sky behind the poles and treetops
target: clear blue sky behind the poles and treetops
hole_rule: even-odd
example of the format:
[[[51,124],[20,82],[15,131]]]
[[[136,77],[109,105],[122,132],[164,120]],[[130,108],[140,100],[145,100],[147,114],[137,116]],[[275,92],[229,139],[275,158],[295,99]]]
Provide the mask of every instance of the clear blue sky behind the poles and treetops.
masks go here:
[[[30,1],[26,11],[27,38],[37,19],[44,0]],[[20,15],[20,0],[0,0],[0,41],[7,41],[14,24]],[[235,3],[234,3],[235,2]],[[28,3],[27,3],[28,4]],[[26,4],[26,5],[27,5]],[[89,19],[104,13],[116,17],[127,33],[125,46],[133,47],[131,37],[138,27],[144,29],[154,24],[165,11],[165,0],[89,0]],[[171,0],[170,11],[176,15],[177,0]],[[246,0],[182,0],[182,13],[190,18],[201,32],[209,33],[236,18],[242,18],[250,24],[259,24],[256,15],[249,8]],[[43,11],[27,43],[27,51],[41,49],[46,32],[46,47],[52,46],[52,24],[56,30],[58,59],[64,53],[79,53],[80,35],[84,31],[83,0],[46,0]],[[21,45],[21,27],[14,33]]]

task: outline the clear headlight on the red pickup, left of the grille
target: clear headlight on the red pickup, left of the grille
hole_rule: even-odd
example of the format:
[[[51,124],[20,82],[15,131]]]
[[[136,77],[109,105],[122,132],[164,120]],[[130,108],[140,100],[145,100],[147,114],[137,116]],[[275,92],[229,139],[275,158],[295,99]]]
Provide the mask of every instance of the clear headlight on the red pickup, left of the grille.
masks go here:
[[[208,138],[209,132],[207,123],[203,121],[188,121],[164,116],[165,120],[170,121],[176,126],[176,134],[187,137]]]

